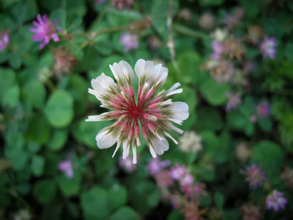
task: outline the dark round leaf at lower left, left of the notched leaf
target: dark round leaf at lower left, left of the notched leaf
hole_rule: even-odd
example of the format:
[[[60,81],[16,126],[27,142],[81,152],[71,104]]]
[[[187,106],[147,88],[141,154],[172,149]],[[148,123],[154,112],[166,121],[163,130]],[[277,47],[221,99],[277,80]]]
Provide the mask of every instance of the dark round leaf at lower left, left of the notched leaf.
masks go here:
[[[39,202],[47,204],[55,198],[56,189],[53,179],[41,179],[34,185],[33,194]]]

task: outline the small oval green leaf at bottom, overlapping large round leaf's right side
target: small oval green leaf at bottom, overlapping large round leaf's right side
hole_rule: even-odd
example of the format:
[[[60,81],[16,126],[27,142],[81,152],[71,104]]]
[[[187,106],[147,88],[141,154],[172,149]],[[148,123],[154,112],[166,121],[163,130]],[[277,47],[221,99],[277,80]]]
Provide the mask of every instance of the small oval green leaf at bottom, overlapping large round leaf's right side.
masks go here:
[[[115,210],[125,205],[128,200],[127,189],[123,185],[114,185],[108,191],[109,204]]]

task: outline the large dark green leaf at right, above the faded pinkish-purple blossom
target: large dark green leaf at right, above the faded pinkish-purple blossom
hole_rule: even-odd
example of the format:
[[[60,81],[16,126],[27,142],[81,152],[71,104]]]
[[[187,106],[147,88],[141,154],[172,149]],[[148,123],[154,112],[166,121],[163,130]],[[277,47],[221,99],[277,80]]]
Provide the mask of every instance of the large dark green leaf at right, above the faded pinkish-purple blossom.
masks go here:
[[[284,154],[277,144],[271,141],[261,141],[253,147],[252,163],[259,163],[268,177],[278,175],[283,165]]]

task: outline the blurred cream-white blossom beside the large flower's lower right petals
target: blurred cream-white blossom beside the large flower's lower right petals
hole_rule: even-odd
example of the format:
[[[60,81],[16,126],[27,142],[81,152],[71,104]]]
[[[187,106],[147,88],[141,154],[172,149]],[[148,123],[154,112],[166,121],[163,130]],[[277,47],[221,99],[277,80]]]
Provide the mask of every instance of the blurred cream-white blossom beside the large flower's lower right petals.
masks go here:
[[[188,131],[179,139],[179,149],[182,152],[198,153],[202,150],[202,138],[199,134],[193,131]]]

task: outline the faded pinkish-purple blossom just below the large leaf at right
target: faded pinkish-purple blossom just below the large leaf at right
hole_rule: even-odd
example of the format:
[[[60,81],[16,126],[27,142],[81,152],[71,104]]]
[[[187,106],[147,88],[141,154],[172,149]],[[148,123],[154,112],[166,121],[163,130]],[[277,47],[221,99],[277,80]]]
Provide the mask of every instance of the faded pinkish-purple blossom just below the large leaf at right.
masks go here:
[[[260,166],[255,164],[252,164],[251,167],[246,167],[246,170],[240,170],[240,173],[247,176],[245,180],[249,182],[252,189],[261,186],[263,182],[267,180],[265,172],[261,170]]]

